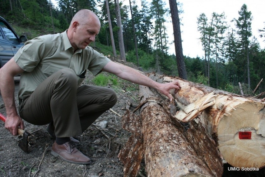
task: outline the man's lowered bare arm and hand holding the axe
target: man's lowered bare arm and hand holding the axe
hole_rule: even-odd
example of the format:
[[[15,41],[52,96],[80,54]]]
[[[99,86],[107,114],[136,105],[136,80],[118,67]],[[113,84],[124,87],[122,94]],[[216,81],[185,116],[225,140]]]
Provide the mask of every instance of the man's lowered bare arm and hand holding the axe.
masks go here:
[[[24,129],[24,123],[16,111],[14,76],[22,73],[21,69],[12,58],[0,69],[0,90],[5,103],[7,119],[5,128],[12,135],[17,135],[17,128]]]

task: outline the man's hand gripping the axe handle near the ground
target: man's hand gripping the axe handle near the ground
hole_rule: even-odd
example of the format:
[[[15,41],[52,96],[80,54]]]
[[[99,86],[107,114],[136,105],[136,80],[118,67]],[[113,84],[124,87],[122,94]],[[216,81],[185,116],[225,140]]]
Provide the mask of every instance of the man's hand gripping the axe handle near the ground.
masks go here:
[[[24,129],[24,122],[18,115],[14,117],[7,117],[5,128],[12,134],[17,135],[17,128]]]

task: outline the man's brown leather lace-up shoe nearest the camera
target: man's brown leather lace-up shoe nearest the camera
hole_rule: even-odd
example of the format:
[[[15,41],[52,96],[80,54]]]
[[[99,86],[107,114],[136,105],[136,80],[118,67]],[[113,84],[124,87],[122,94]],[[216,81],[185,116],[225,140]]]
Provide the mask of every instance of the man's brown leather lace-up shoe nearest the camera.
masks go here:
[[[63,160],[74,164],[87,165],[92,163],[90,158],[80,152],[72,141],[62,145],[58,145],[54,142],[51,154],[55,157],[60,156]]]

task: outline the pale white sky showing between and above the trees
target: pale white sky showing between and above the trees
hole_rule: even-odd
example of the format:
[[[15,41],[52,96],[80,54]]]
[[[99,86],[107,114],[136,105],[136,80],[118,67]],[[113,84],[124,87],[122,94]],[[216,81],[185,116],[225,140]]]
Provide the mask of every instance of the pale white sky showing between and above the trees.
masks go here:
[[[129,5],[128,0],[119,1],[123,1],[125,5]],[[151,2],[151,0],[148,1]],[[56,4],[54,0],[52,0],[52,2],[53,4]],[[136,2],[137,5],[141,7],[141,1],[136,0]],[[169,1],[164,0],[164,2],[166,2],[166,7],[169,8]],[[184,13],[180,14],[180,17],[182,18],[181,23],[183,24],[180,26],[180,30],[182,31],[183,55],[192,58],[197,56],[202,58],[204,56],[202,45],[199,40],[200,33],[197,31],[197,17],[199,17],[201,13],[205,13],[206,17],[211,19],[213,12],[218,14],[224,12],[226,21],[235,29],[235,26],[233,26],[234,22],[230,21],[234,18],[238,19],[238,11],[240,11],[243,4],[247,5],[248,11],[251,11],[253,16],[252,35],[258,39],[261,49],[265,48],[265,39],[261,39],[258,33],[258,29],[263,29],[265,26],[264,0],[178,0],[178,2],[182,3],[182,10],[184,11]],[[171,17],[169,17],[168,20],[167,34],[169,36],[169,43],[171,43],[174,39]],[[169,47],[169,54],[175,54],[174,43]]]

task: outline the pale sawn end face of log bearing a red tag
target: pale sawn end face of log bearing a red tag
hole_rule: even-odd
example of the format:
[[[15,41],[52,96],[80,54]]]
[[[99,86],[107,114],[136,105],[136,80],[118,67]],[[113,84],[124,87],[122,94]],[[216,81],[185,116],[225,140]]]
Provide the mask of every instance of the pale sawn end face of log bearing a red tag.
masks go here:
[[[219,150],[230,165],[261,168],[265,165],[264,104],[244,98],[240,102],[230,102],[227,106],[232,109],[216,126]]]

